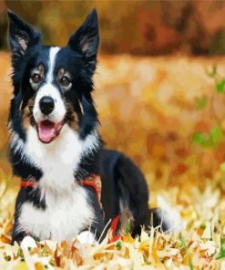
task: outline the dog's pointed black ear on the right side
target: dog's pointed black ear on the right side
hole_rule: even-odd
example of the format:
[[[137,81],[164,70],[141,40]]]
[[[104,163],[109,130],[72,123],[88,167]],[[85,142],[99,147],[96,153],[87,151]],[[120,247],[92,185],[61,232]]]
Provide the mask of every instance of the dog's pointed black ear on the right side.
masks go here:
[[[95,69],[98,44],[98,18],[97,11],[94,8],[87,16],[85,22],[70,36],[68,45],[80,51],[87,59],[88,64]]]

